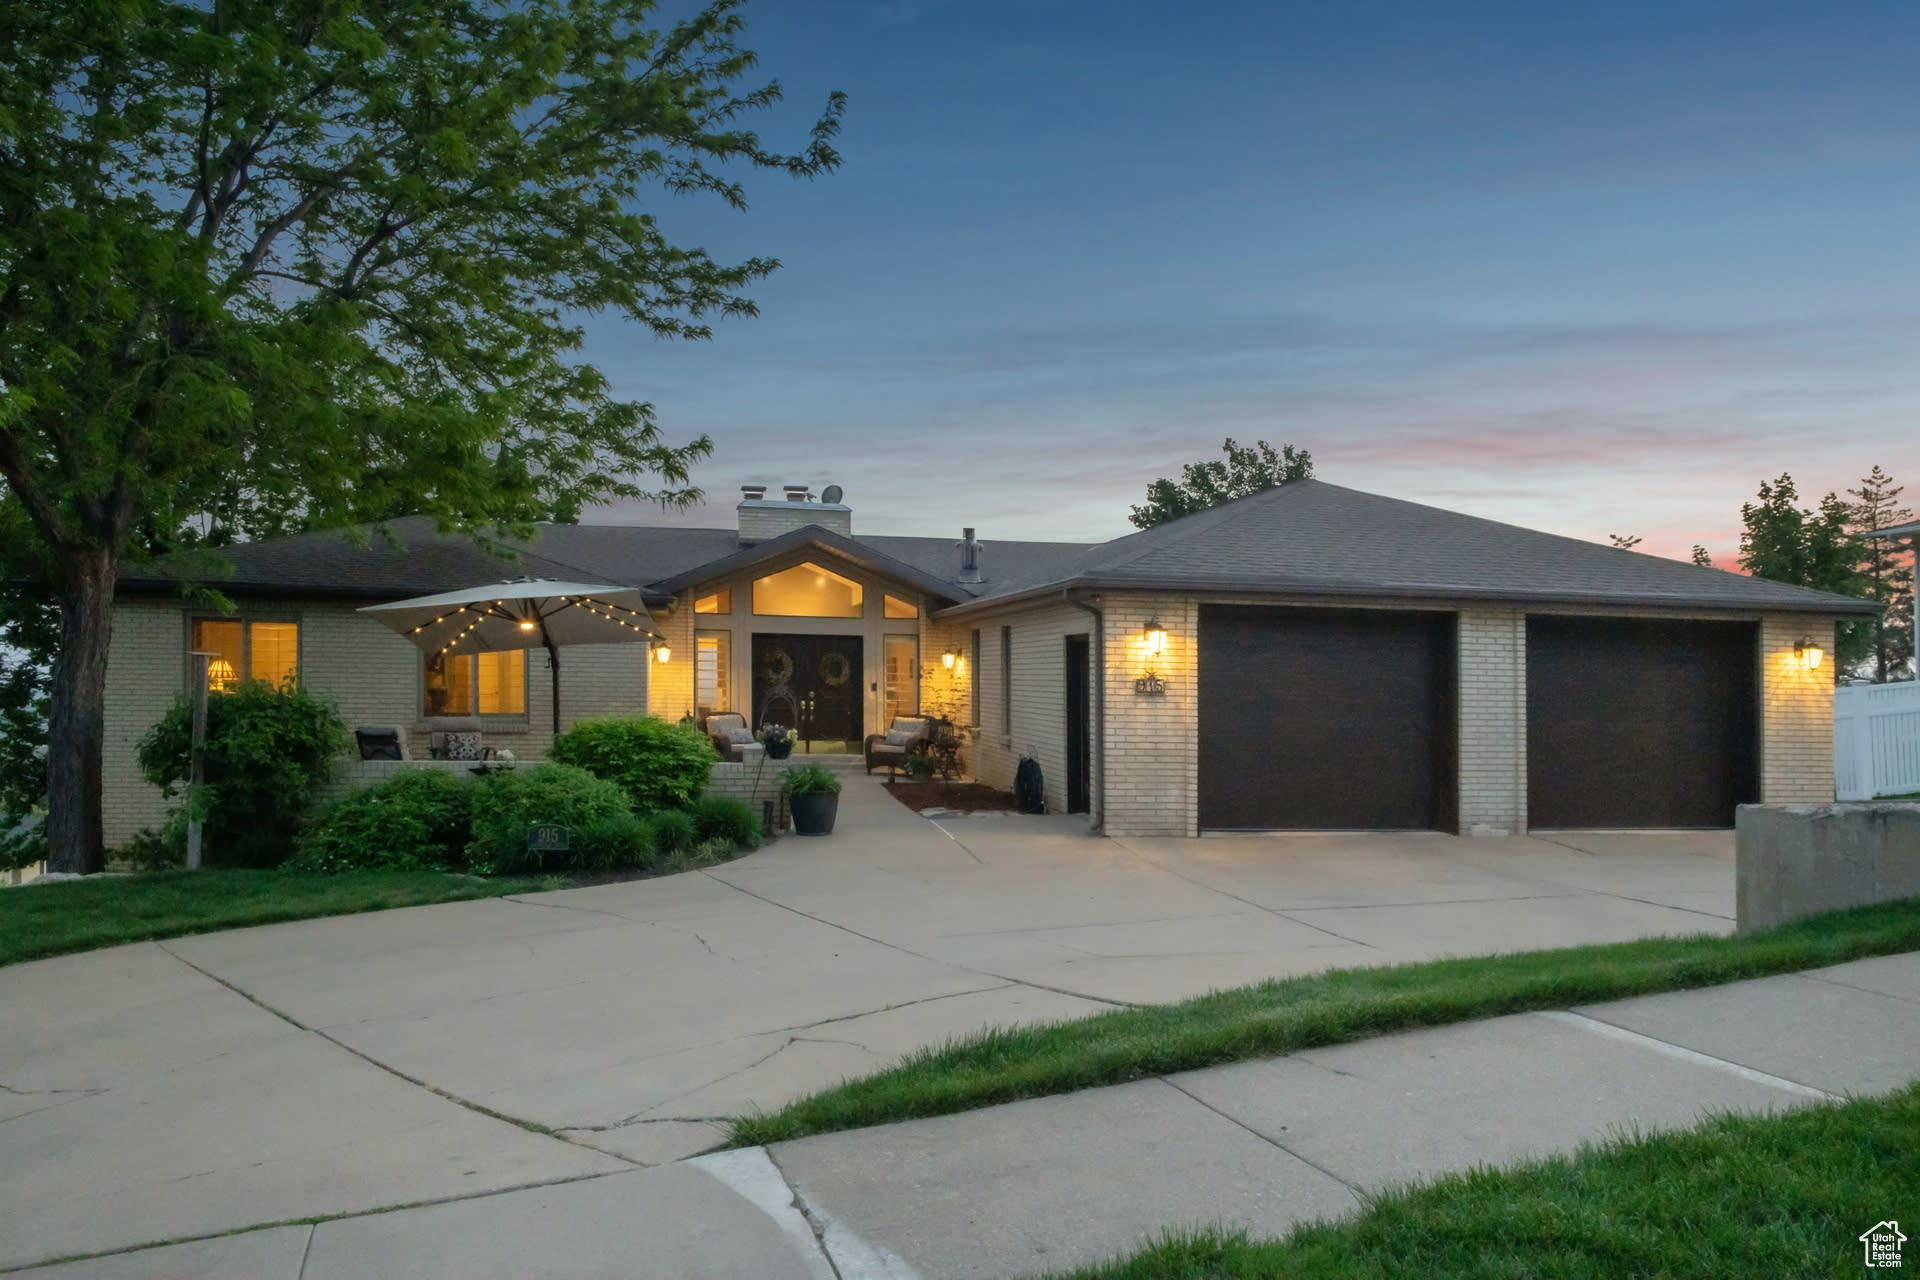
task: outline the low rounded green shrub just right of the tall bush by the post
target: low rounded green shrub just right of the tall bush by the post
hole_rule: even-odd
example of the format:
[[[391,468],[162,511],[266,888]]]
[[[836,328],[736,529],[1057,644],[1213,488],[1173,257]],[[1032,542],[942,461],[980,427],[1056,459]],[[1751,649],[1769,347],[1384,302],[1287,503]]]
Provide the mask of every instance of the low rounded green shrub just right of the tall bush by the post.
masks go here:
[[[401,770],[334,800],[300,837],[290,871],[451,871],[467,862],[472,783]]]

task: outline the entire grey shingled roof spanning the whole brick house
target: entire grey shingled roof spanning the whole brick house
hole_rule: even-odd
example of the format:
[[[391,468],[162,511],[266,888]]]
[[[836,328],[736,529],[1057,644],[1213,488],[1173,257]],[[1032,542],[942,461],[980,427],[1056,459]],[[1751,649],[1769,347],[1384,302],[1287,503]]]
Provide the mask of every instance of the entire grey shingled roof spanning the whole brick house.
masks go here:
[[[987,581],[960,583],[950,537],[847,537],[808,526],[743,549],[735,530],[541,526],[503,560],[409,518],[386,533],[300,533],[227,547],[192,574],[232,593],[399,599],[503,578],[599,580],[664,597],[770,555],[818,547],[952,601],[950,614],[1064,589],[1233,591],[1377,601],[1513,601],[1651,608],[1872,614],[1876,604],[1294,480],[1108,543],[985,543]],[[129,591],[175,589],[179,568],[129,572]]]

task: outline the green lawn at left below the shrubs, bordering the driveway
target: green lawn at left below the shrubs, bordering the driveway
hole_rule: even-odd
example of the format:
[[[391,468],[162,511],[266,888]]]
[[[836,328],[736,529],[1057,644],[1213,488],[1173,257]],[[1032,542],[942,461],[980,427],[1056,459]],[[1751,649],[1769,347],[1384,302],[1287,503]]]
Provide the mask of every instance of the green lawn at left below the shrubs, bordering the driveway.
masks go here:
[[[559,889],[553,877],[442,871],[156,871],[0,889],[0,965],[115,942]]]

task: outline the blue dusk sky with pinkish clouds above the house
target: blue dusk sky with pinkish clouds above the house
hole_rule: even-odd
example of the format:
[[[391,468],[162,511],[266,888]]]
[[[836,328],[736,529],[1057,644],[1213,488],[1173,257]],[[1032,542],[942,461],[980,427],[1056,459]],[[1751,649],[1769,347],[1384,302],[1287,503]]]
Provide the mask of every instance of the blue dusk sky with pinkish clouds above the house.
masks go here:
[[[707,432],[682,516],[1108,537],[1223,436],[1336,484],[1722,558],[1740,503],[1920,499],[1920,6],[758,0],[845,167],[674,201],[785,261],[710,344],[588,353]],[[1920,505],[1920,501],[1916,501]],[[641,510],[597,518],[647,520]]]

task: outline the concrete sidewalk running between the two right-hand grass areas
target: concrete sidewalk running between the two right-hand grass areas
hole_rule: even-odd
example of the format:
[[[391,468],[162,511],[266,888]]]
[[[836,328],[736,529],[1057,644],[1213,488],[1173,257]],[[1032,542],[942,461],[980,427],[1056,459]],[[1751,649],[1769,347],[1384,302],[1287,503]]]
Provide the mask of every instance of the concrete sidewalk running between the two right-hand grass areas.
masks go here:
[[[1177,1224],[1277,1236],[1409,1178],[1914,1075],[1907,954],[19,1274],[1021,1276]]]

